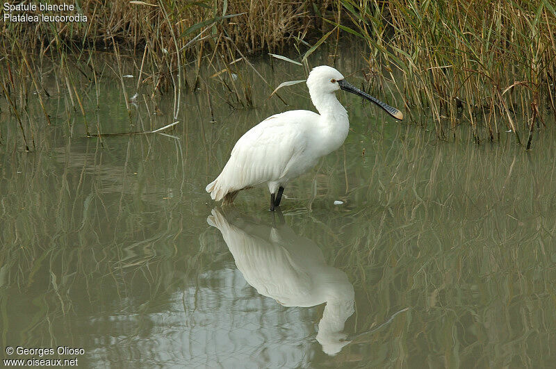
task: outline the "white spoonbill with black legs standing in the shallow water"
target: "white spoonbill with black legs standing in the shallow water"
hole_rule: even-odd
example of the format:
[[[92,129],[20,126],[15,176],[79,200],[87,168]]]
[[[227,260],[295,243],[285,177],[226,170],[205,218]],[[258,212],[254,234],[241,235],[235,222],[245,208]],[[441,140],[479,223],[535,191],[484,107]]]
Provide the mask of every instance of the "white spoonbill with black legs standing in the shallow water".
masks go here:
[[[306,84],[318,113],[288,110],[247,131],[234,145],[222,172],[206,186],[212,199],[231,204],[240,190],[267,185],[270,211],[274,211],[286,184],[341,147],[347,137],[350,123],[347,110],[336,99],[338,90],[368,99],[395,119],[403,119],[400,110],[354,87],[333,67],[314,67]]]

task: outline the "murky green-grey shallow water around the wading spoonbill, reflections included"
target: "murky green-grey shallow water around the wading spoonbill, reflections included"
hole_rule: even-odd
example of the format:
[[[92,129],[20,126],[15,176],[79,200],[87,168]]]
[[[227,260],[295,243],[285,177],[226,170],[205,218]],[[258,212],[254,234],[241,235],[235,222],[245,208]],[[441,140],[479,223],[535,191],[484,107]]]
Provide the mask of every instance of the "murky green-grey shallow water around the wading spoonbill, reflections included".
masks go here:
[[[338,94],[352,131],[286,188],[281,213],[259,188],[219,208],[206,183],[250,126],[288,109],[266,99],[272,87],[303,78],[276,65],[256,65],[271,87],[241,76],[257,108],[215,91],[216,122],[204,92],[186,95],[171,136],[101,142],[79,114],[70,135],[68,97],[52,93],[53,124],[31,106],[25,152],[2,106],[2,346],[83,347],[60,357],[90,367],[550,366],[556,132],[530,152],[503,130],[493,144],[465,128],[442,142]],[[311,108],[304,85],[281,95]],[[132,106],[131,127],[120,85],[101,97],[93,131],[172,122],[171,97],[163,115]]]

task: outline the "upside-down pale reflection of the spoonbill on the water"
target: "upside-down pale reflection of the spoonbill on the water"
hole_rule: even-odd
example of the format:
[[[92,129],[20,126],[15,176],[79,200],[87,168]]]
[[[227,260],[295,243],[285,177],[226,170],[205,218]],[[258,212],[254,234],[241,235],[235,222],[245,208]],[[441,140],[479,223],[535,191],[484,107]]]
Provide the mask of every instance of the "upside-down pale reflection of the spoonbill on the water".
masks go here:
[[[316,306],[326,302],[316,340],[322,351],[336,355],[350,343],[343,333],[354,313],[354,290],[347,275],[325,263],[320,248],[297,236],[277,214],[270,227],[214,208],[208,224],[220,229],[238,270],[261,295],[284,306]]]

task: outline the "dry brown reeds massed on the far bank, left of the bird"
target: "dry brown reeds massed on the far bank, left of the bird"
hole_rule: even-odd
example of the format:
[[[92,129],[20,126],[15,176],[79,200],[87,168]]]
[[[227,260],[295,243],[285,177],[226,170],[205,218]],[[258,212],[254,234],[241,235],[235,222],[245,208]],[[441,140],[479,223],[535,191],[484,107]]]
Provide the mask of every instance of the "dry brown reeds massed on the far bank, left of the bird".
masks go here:
[[[76,13],[88,22],[38,24],[3,22],[0,30],[4,51],[17,40],[45,54],[56,47],[111,49],[118,44],[131,51],[156,51],[158,57],[175,53],[199,53],[202,44],[226,37],[243,51],[280,51],[294,38],[303,39],[332,1],[123,1],[102,6],[97,1],[80,1]],[[51,1],[62,3],[62,1]],[[319,10],[322,9],[322,10]],[[38,14],[38,12],[29,12]],[[195,40],[195,42],[191,42]],[[186,46],[187,45],[187,46]],[[197,48],[197,49],[196,49]]]

